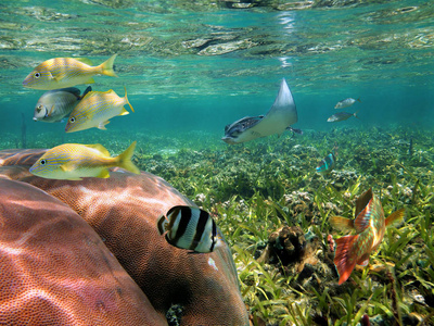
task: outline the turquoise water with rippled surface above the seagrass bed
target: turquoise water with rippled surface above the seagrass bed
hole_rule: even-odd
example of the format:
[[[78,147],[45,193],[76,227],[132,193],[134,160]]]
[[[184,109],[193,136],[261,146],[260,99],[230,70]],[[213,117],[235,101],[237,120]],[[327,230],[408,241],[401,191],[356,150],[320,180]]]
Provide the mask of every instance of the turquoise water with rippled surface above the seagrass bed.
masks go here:
[[[251,4],[248,4],[252,2]],[[255,5],[253,5],[255,4]],[[75,141],[115,131],[212,133],[268,111],[285,77],[302,129],[434,122],[434,4],[431,1],[1,1],[1,135]],[[248,7],[237,9],[237,7]],[[43,93],[22,87],[40,62],[84,57],[99,64],[117,53],[118,78],[94,90],[127,87],[136,113],[107,131],[63,135],[31,121]],[[78,86],[81,90],[85,85]],[[360,120],[330,124],[347,97]],[[90,137],[90,136],[89,136]]]

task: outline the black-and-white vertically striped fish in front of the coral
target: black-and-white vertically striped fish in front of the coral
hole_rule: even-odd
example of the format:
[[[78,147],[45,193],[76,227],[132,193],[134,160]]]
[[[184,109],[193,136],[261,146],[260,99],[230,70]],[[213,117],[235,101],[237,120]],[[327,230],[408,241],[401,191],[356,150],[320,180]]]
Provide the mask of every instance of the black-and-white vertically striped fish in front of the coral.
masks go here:
[[[222,240],[214,220],[197,208],[174,206],[158,218],[157,227],[171,246],[195,252],[212,252]]]

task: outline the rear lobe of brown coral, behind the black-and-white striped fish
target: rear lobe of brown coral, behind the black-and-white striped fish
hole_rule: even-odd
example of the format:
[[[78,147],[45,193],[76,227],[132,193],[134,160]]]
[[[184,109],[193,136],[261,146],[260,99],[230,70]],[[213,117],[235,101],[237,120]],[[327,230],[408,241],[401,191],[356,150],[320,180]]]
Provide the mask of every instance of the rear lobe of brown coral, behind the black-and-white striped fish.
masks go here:
[[[248,325],[229,247],[207,254],[175,248],[156,221],[171,206],[193,203],[162,178],[111,172],[107,179],[52,180],[28,167],[42,150],[0,151],[0,176],[47,191],[77,212],[146,294],[157,313],[181,311],[181,325]]]

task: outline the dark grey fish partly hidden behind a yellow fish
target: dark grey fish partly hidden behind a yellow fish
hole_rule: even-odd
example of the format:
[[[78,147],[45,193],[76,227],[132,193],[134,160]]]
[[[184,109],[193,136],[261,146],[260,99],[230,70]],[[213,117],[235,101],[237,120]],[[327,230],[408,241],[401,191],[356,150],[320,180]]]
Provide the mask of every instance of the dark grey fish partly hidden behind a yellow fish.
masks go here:
[[[61,122],[65,116],[69,115],[75,105],[91,90],[92,88],[88,86],[81,96],[80,90],[75,87],[46,91],[36,103],[34,121]]]

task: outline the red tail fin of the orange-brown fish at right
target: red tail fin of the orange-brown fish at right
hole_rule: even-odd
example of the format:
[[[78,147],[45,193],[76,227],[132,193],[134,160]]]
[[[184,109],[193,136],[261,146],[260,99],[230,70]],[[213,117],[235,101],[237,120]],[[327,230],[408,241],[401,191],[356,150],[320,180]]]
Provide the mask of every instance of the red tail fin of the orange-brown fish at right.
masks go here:
[[[358,237],[358,235],[345,236],[335,240],[336,253],[334,255],[334,265],[340,276],[340,285],[348,279],[356,266],[357,258],[352,256],[352,249]]]

